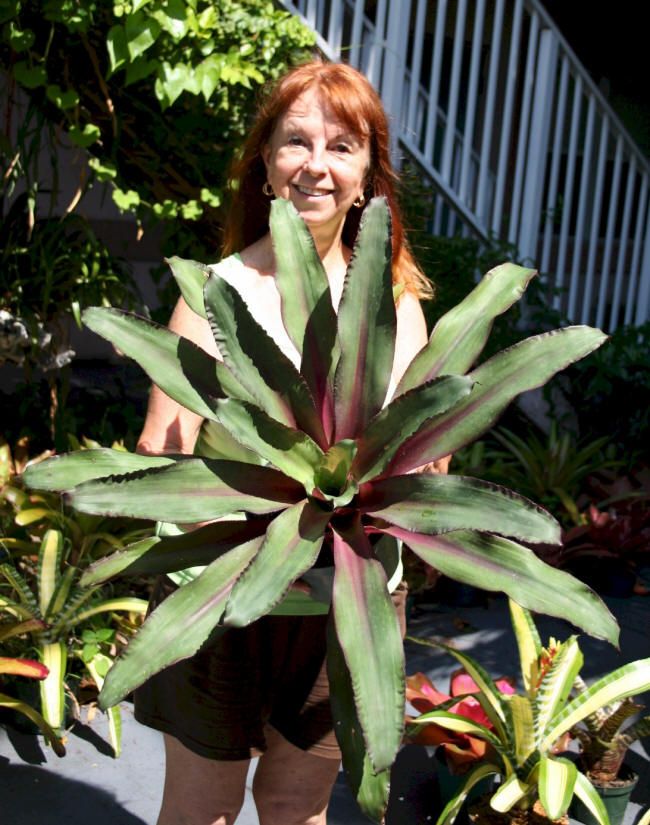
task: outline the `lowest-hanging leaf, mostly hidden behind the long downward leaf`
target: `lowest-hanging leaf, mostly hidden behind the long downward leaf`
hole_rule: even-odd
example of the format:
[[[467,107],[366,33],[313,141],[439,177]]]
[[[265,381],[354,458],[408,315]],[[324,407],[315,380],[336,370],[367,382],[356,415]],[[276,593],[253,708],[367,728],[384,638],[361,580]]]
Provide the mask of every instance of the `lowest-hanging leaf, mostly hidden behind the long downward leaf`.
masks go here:
[[[375,774],[372,769],[354,706],[350,673],[331,620],[327,627],[327,677],[345,777],[363,813],[374,822],[381,822],[388,806],[390,770]]]

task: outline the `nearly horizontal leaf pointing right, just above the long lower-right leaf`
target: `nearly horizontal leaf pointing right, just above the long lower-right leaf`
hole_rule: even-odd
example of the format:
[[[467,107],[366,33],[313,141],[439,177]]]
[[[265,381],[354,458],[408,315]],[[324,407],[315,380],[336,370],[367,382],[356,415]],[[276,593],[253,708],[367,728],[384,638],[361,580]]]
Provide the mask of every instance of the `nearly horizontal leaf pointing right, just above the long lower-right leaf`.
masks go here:
[[[417,473],[361,488],[364,512],[417,533],[485,530],[528,542],[560,543],[560,525],[532,501],[487,481]],[[407,540],[407,544],[408,544]]]

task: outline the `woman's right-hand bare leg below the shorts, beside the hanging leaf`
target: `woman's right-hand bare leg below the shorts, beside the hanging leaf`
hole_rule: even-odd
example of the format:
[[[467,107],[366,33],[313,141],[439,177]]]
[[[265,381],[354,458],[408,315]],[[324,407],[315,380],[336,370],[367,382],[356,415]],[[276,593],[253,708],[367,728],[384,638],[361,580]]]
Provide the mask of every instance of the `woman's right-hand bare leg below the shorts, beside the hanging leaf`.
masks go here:
[[[314,756],[268,725],[253,797],[260,825],[325,825],[339,760]]]

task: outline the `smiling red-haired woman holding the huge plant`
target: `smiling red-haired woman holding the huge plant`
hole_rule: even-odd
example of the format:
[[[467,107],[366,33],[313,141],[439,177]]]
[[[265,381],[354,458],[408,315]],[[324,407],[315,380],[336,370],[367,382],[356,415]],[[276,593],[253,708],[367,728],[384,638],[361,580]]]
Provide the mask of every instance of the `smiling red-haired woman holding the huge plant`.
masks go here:
[[[405,287],[397,303],[394,387],[427,340],[418,300],[427,282],[405,244],[388,152],[386,116],[362,75],[320,62],[289,72],[261,106],[234,170],[229,257],[215,272],[297,361],[274,281],[271,199],[289,199],[307,223],[336,308],[364,205],[384,195],[393,220],[393,279]],[[170,327],[218,356],[208,324],[182,299]],[[190,453],[201,424],[154,388],[139,450]],[[137,718],[165,733],[158,825],[234,823],[249,760],[258,754],[253,795],[261,825],[325,823],[340,758],[324,670],[325,623],[325,616],[264,617],[227,631],[139,691]]]

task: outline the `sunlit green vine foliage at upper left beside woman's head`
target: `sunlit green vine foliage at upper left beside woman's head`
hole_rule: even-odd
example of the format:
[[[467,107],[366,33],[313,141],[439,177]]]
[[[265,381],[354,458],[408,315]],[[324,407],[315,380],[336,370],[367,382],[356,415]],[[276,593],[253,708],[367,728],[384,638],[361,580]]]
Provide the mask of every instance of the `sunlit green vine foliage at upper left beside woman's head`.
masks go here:
[[[80,190],[110,182],[141,225],[171,222],[176,251],[179,220],[214,251],[256,93],[313,43],[269,0],[0,0],[0,24],[8,99],[21,87],[62,143],[88,151]],[[9,184],[25,173],[10,116],[9,103]]]

